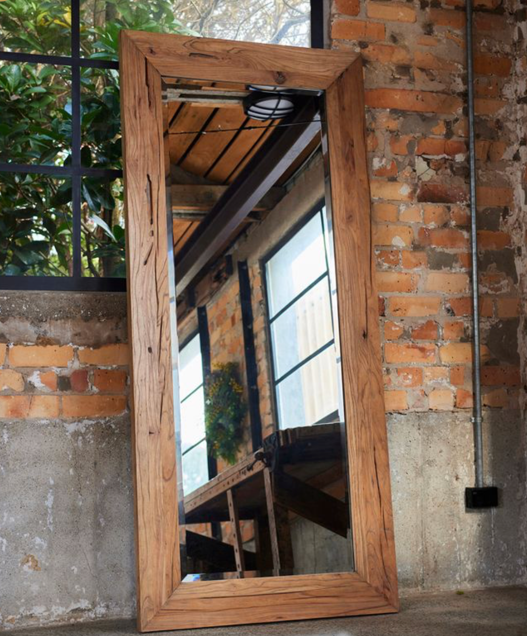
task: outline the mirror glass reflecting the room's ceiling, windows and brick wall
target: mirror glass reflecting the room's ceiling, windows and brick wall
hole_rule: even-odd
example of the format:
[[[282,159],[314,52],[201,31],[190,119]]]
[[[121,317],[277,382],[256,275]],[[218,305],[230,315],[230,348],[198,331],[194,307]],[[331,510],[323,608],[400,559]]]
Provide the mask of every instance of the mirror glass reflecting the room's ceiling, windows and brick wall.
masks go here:
[[[322,98],[163,79],[183,581],[353,570]]]

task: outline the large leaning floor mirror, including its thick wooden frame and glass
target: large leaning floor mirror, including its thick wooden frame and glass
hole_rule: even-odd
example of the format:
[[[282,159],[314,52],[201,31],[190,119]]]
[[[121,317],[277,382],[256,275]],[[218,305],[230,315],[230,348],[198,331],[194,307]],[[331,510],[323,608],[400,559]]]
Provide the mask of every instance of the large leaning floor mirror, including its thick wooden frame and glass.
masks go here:
[[[360,60],[121,67],[139,628],[395,611]]]

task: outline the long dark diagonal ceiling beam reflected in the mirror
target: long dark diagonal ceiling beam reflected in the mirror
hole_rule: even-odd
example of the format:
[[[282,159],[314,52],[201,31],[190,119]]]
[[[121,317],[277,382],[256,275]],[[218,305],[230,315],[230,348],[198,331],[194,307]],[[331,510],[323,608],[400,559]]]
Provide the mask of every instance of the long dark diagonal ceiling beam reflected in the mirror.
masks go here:
[[[274,130],[250,158],[177,254],[175,285],[178,296],[320,132],[317,101],[312,97],[306,100],[288,123],[292,125]]]

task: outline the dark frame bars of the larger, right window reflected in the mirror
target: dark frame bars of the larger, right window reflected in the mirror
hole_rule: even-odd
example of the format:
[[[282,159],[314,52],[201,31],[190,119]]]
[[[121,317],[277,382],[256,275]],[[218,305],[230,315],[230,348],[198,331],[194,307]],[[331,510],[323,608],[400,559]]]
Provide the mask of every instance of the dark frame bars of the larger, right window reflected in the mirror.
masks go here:
[[[323,354],[325,350],[331,348],[335,345],[335,318],[333,314],[333,306],[332,306],[332,289],[331,289],[331,268],[329,263],[329,254],[328,254],[328,234],[329,230],[327,228],[327,220],[325,219],[325,200],[318,201],[316,205],[311,208],[307,214],[305,214],[297,223],[295,223],[278,241],[276,245],[274,245],[270,251],[264,254],[263,258],[260,259],[260,271],[263,280],[263,291],[264,291],[264,303],[265,303],[265,322],[266,322],[266,338],[267,338],[267,350],[268,350],[268,365],[271,372],[271,384],[273,387],[273,391],[271,393],[272,405],[273,405],[273,413],[275,417],[275,430],[282,430],[281,422],[280,422],[280,408],[279,408],[279,397],[278,397],[278,384],[285,380],[287,377],[291,376],[293,373],[301,369],[306,363],[314,360],[316,357]],[[270,313],[270,285],[268,283],[268,273],[267,273],[267,265],[282,249],[286,247],[286,245],[294,239],[298,233],[305,228],[305,226],[313,220],[313,218],[319,216],[320,217],[320,225],[322,227],[322,240],[324,244],[324,260],[325,260],[325,270],[323,273],[315,277],[315,279],[311,280],[309,284],[307,284],[300,292],[296,293],[291,300],[289,300],[283,307],[271,316]],[[317,284],[319,284],[323,280],[327,281],[327,286],[329,290],[329,308],[331,312],[331,326],[332,326],[332,338],[325,342],[323,345],[318,347],[315,351],[305,356],[303,359],[298,361],[298,363],[294,364],[289,370],[282,373],[280,377],[277,377],[277,369],[276,369],[276,361],[275,361],[275,343],[273,338],[273,331],[271,329],[271,324],[278,318],[280,315],[283,315],[289,308],[294,307],[294,305],[301,300],[305,294],[307,294],[311,289],[313,289]],[[338,405],[337,405],[338,406]],[[330,422],[337,418],[339,415],[339,410],[336,408],[335,410],[327,413],[324,417],[318,419],[315,422],[310,422],[306,425],[315,425],[315,424],[323,424],[324,422]],[[286,427],[287,428],[287,427]]]

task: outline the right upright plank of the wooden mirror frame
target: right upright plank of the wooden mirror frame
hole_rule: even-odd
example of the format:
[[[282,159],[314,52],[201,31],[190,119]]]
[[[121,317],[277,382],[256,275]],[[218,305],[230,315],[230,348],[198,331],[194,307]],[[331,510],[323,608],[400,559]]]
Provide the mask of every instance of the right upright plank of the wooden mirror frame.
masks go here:
[[[362,62],[326,93],[355,565],[397,607]]]

